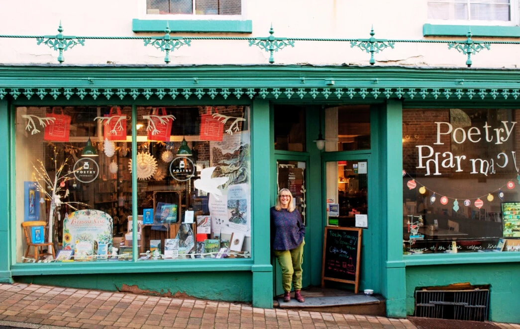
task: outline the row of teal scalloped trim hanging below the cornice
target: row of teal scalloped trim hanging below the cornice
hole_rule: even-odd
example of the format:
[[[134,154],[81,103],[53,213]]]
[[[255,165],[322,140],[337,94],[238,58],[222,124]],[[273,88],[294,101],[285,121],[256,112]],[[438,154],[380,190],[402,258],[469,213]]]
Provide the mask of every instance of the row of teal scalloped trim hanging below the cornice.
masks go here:
[[[290,99],[293,95],[297,95],[300,99],[329,99],[334,97],[338,100],[353,98],[373,98],[378,99],[380,96],[386,99],[390,98],[419,98],[437,100],[445,99],[487,99],[487,100],[506,100],[508,98],[518,99],[520,97],[519,88],[415,88],[415,87],[232,87],[232,88],[42,88],[42,87],[2,87],[0,88],[0,100],[10,95],[13,99],[18,99],[20,95],[24,95],[27,99],[31,99],[36,95],[40,99],[52,97],[55,100],[63,97],[67,100],[77,97],[80,100],[87,99],[87,96],[96,99],[99,95],[104,95],[110,100],[113,95],[119,99],[153,99],[157,97],[162,99],[165,95],[170,95],[175,99],[178,95],[184,96],[185,99],[196,97],[202,99],[209,96],[215,99],[222,96],[223,99],[233,94],[240,99],[244,94],[248,98],[253,99],[260,97],[262,99]],[[282,96],[283,95],[283,96]],[[332,96],[333,95],[333,96]]]

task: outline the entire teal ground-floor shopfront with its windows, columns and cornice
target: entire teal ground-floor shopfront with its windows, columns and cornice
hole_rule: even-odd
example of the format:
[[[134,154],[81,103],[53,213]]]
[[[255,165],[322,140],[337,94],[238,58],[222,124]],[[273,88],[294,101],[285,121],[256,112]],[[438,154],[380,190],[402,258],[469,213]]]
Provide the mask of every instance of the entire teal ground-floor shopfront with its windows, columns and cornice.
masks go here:
[[[357,226],[360,289],[384,296],[389,317],[413,314],[423,287],[467,282],[489,289],[489,320],[520,323],[518,81],[482,69],[2,66],[0,281],[271,308],[269,208],[289,188],[305,213],[304,286],[321,284],[325,227]],[[25,254],[22,223],[36,220],[61,261]]]

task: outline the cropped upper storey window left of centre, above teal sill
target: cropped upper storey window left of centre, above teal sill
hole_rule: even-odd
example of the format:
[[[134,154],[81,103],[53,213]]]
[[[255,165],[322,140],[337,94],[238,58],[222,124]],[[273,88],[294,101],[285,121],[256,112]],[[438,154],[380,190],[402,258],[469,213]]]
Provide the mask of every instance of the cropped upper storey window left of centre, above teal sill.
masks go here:
[[[147,14],[242,15],[241,0],[147,0]]]

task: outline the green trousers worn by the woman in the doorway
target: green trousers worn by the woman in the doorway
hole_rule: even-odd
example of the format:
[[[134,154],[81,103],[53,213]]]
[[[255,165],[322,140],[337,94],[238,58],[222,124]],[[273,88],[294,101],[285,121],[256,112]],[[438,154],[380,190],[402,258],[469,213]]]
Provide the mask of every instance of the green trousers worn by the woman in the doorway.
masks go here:
[[[302,288],[302,264],[303,264],[303,246],[305,240],[294,249],[291,250],[275,250],[276,259],[282,268],[282,286],[283,291],[291,291],[291,282],[295,290]]]

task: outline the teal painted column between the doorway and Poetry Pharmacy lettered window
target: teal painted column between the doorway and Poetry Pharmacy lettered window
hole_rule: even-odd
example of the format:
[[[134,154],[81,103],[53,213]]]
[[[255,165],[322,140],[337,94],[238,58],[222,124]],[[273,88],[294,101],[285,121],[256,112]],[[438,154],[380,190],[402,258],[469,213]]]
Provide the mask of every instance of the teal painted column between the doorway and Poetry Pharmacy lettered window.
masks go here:
[[[381,214],[383,295],[388,317],[406,318],[406,273],[402,259],[402,102],[388,100],[381,112]],[[385,170],[386,169],[386,170]]]

